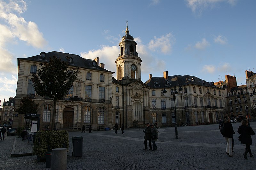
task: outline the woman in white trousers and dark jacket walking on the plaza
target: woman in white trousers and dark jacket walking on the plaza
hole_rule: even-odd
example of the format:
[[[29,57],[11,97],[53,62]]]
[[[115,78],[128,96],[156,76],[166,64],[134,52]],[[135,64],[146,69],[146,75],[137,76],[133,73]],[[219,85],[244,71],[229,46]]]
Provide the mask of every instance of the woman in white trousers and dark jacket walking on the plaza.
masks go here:
[[[229,155],[229,157],[232,157],[232,136],[235,134],[233,130],[233,126],[230,122],[230,118],[227,117],[224,120],[223,123],[223,128],[224,128],[224,135],[226,141],[227,141],[227,147],[226,147],[226,154]]]

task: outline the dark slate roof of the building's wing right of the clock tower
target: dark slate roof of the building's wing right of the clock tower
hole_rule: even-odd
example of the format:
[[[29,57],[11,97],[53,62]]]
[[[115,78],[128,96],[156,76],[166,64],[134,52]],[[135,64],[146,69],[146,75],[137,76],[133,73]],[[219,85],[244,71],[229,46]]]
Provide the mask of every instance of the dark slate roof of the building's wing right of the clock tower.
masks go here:
[[[167,80],[169,81],[169,84],[166,83]],[[158,85],[156,85],[156,81],[158,81]],[[197,85],[219,89],[213,85],[213,82],[206,82],[198,77],[190,75],[173,75],[168,76],[168,79],[165,79],[164,77],[151,77],[145,82],[145,84],[147,84],[150,88],[156,89],[175,87],[179,84],[180,86]]]

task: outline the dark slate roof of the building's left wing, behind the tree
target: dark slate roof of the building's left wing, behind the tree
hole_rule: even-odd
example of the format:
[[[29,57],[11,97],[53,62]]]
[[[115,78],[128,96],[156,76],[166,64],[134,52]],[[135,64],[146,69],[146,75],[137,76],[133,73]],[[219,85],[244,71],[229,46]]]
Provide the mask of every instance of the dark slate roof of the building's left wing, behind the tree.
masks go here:
[[[61,61],[67,61],[67,57],[73,58],[72,62],[68,62],[69,66],[74,66],[74,67],[80,67],[80,68],[86,68],[86,69],[92,69],[92,70],[98,70],[98,71],[104,71],[104,72],[109,72],[109,73],[114,73],[111,71],[108,71],[98,65],[93,66],[92,65],[92,59],[86,59],[82,58],[79,55],[76,54],[69,54],[69,53],[63,53],[63,52],[58,52],[58,51],[52,51],[52,52],[47,52],[45,58],[41,58],[41,56],[38,54],[36,56],[28,57],[28,58],[18,58],[18,65],[20,60],[30,60],[30,61],[37,61],[41,63],[48,63],[49,58],[52,56],[56,56],[58,58],[61,58]]]

